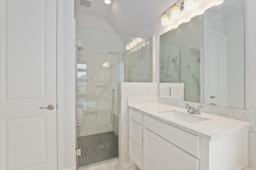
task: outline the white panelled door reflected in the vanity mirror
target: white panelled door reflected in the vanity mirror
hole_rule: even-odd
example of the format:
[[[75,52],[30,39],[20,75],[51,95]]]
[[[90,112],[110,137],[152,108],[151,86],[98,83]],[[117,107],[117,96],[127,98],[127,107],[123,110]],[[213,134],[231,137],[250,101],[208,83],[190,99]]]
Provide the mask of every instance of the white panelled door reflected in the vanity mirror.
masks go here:
[[[226,106],[226,36],[210,33],[210,103]]]

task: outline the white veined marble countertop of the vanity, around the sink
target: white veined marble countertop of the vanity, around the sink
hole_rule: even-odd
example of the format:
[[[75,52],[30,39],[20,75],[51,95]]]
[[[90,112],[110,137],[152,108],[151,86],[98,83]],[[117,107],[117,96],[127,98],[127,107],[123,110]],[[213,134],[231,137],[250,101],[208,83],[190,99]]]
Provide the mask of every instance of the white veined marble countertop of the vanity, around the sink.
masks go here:
[[[239,121],[236,119],[230,119],[208,113],[202,113],[201,115],[190,114],[187,109],[170,106],[161,103],[145,103],[145,104],[129,104],[129,108],[144,113],[150,117],[154,117],[164,123],[168,123],[174,127],[213,141],[224,137],[229,134],[233,134],[244,129],[250,129],[252,123],[246,121]],[[187,123],[171,117],[162,116],[162,111],[176,110],[181,111],[184,114],[190,114],[192,116],[204,117],[208,120],[199,121],[195,123]]]

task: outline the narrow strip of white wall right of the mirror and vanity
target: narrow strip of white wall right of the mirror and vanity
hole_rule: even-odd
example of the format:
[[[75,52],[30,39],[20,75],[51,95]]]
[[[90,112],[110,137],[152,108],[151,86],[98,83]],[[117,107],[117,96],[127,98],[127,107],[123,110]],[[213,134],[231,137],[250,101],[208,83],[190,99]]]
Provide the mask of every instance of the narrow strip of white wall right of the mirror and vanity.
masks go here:
[[[256,11],[255,0],[246,0],[245,3],[245,108],[254,111],[256,122]],[[256,132],[256,126],[251,128]],[[256,169],[256,133],[249,133],[249,166]]]

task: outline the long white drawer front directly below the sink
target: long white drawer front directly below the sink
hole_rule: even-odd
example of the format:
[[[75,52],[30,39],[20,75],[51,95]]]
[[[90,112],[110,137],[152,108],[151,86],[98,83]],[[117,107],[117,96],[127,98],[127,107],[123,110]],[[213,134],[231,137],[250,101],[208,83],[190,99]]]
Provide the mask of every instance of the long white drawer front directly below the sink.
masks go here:
[[[147,115],[143,115],[143,126],[196,158],[199,158],[200,138],[198,136]]]

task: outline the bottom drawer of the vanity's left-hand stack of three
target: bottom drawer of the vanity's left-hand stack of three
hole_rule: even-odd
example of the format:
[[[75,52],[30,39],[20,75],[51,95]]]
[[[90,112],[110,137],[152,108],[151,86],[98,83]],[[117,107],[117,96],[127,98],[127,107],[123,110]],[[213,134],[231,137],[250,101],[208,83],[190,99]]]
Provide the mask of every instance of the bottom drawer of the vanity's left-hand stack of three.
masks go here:
[[[142,170],[142,148],[129,137],[129,155],[137,166]]]

